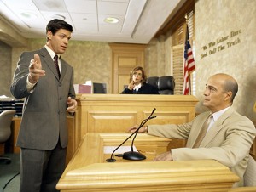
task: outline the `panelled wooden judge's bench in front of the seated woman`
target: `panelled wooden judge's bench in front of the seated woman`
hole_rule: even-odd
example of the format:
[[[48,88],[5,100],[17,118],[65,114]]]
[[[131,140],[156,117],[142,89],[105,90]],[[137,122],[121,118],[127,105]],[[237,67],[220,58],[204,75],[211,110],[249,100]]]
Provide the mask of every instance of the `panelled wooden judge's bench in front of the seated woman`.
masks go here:
[[[195,117],[198,100],[192,95],[78,94],[75,149],[86,133],[125,133],[155,108],[147,124],[184,123]]]

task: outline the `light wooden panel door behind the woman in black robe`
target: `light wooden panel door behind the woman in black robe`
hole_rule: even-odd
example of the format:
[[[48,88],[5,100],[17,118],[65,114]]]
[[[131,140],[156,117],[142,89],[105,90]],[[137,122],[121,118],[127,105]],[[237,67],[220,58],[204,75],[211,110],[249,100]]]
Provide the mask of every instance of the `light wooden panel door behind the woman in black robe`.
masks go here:
[[[142,44],[110,43],[112,49],[112,93],[121,93],[129,83],[130,72],[136,66],[144,67]]]

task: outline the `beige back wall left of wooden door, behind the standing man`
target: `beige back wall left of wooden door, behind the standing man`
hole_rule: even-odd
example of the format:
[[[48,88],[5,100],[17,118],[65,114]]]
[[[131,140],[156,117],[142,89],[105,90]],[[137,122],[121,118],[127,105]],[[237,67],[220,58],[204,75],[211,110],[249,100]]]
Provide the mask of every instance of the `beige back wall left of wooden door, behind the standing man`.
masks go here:
[[[13,72],[22,51],[43,48],[44,44],[45,39],[29,39],[26,48],[13,48]],[[92,80],[111,85],[111,50],[107,42],[70,41],[66,53],[61,56],[73,66],[75,84]],[[108,93],[111,93],[109,86]]]

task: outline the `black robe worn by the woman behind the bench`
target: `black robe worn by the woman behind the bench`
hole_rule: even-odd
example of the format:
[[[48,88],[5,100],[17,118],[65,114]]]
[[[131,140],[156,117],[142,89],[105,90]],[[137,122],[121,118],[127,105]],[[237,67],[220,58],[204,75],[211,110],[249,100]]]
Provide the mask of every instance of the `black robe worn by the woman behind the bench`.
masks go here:
[[[146,82],[143,83],[142,87],[137,90],[130,90],[129,88],[125,88],[125,90],[121,94],[159,94],[158,89],[153,85],[150,85]]]

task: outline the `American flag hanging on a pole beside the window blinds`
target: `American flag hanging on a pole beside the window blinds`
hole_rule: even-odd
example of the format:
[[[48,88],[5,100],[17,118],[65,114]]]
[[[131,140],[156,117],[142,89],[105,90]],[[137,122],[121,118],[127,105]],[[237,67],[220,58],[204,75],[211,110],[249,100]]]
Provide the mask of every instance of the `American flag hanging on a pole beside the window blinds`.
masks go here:
[[[184,47],[184,82],[183,95],[190,93],[190,74],[195,71],[195,60],[192,53],[192,48],[189,43],[189,27],[187,25],[186,41]]]

